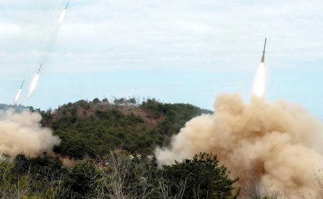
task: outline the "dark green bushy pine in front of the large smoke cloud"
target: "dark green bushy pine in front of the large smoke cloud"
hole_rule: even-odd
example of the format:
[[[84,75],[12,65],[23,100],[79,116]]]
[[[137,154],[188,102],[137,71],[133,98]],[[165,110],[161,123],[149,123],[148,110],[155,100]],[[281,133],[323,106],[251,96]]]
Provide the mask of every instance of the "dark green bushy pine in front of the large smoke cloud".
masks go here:
[[[219,166],[217,156],[200,153],[193,159],[175,161],[171,166],[163,166],[161,175],[167,179],[171,195],[180,198],[235,198],[232,184],[238,180],[228,177],[227,168]]]

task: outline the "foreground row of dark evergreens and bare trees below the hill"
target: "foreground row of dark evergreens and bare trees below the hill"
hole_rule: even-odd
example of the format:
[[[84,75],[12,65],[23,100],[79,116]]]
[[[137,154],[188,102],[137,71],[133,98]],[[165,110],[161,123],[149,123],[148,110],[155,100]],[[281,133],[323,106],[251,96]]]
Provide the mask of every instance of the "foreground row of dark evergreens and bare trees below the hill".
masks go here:
[[[110,152],[102,162],[84,159],[71,168],[59,158],[29,158],[19,154],[0,164],[0,198],[236,198],[237,179],[228,177],[216,156],[158,168],[146,156]]]

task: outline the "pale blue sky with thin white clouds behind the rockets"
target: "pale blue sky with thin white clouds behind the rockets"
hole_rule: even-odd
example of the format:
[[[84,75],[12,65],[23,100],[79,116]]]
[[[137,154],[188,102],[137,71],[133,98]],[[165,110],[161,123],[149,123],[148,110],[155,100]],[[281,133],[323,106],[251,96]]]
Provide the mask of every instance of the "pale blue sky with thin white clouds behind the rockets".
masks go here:
[[[322,1],[0,1],[0,103],[46,110],[155,98],[213,110],[246,103],[267,37],[265,97],[323,119]],[[31,81],[38,83],[29,98]]]

